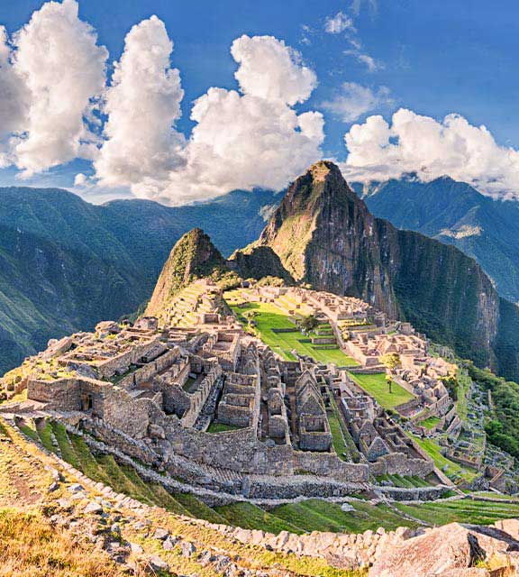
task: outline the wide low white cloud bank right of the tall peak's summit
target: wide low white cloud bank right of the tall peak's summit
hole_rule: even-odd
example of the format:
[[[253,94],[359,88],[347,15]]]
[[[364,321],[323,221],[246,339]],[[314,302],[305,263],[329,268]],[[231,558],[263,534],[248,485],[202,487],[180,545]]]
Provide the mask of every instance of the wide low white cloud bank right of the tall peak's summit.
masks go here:
[[[376,115],[353,125],[345,142],[349,155],[343,169],[350,179],[446,175],[490,196],[519,198],[519,151],[498,145],[485,126],[459,114],[438,122],[401,108],[391,124]]]

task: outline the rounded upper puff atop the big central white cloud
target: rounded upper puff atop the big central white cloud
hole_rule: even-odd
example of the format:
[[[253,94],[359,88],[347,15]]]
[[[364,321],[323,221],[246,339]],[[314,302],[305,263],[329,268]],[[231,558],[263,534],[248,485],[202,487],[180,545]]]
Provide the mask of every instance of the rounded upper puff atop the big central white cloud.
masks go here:
[[[246,36],[232,42],[232,58],[240,65],[234,77],[241,92],[287,105],[305,102],[317,77],[301,54],[273,36]]]

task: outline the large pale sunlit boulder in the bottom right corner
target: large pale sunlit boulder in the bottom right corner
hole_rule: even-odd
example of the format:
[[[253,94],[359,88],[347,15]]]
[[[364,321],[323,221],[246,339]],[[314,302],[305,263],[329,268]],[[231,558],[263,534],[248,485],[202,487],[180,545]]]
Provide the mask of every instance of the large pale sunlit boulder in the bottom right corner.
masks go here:
[[[369,577],[433,577],[474,567],[479,560],[519,551],[519,541],[496,527],[451,523],[378,556]]]

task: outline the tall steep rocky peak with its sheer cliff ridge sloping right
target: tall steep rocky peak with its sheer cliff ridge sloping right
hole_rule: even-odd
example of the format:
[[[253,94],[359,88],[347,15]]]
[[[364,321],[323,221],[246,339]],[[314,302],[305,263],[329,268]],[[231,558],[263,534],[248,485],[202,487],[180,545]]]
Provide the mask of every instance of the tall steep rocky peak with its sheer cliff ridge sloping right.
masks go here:
[[[296,280],[363,298],[460,354],[494,361],[499,298],[476,261],[375,218],[332,162],[296,179],[257,244]]]

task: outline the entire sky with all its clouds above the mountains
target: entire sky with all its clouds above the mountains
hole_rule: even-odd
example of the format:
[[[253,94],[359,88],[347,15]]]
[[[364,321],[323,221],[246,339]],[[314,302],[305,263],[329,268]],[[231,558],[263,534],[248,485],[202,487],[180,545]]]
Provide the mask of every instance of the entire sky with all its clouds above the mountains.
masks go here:
[[[519,198],[514,0],[2,0],[0,185],[180,205],[443,174]]]

